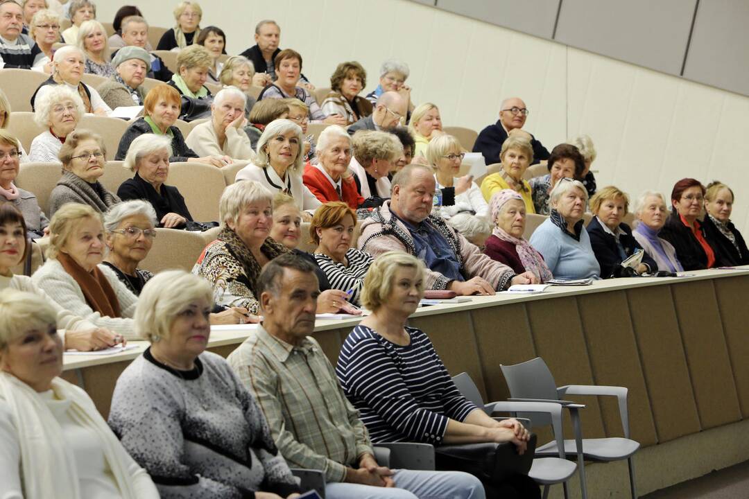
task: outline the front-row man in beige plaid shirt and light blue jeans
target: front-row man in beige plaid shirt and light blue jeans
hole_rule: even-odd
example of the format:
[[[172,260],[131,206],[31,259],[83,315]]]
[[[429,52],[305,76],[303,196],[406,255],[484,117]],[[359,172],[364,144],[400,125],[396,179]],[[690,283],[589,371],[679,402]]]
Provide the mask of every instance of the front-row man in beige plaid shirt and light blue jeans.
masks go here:
[[[484,498],[469,474],[377,464],[364,423],[310,336],[319,294],[311,263],[294,254],[276,257],[258,278],[264,321],[227,359],[288,464],[323,471],[327,499]]]

